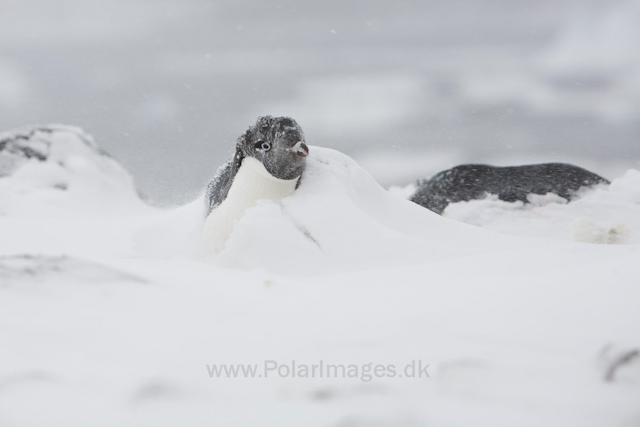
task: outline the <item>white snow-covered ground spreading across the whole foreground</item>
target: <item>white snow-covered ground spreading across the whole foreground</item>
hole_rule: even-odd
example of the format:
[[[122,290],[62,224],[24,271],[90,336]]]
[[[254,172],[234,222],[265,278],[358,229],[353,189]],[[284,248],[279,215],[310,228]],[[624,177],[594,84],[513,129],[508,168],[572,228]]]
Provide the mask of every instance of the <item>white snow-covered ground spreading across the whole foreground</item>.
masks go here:
[[[637,179],[580,201],[596,223],[595,211],[629,214],[620,245],[440,217],[318,147],[300,188],[249,209],[214,256],[198,253],[201,199],[111,216],[9,203],[0,425],[636,425],[637,358],[604,378],[611,348],[640,344]],[[527,234],[535,209],[508,218],[520,227],[510,234]],[[211,378],[207,367],[265,360],[422,361],[430,377]]]

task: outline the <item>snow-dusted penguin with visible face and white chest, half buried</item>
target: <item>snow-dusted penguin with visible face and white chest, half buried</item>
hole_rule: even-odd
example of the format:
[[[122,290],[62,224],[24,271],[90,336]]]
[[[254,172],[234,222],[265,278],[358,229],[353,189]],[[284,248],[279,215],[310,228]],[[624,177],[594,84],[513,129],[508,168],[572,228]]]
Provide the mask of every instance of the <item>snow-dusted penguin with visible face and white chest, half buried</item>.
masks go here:
[[[289,117],[262,116],[242,134],[232,159],[222,165],[205,193],[205,247],[220,251],[235,222],[258,200],[279,202],[300,185],[309,155],[304,132]]]

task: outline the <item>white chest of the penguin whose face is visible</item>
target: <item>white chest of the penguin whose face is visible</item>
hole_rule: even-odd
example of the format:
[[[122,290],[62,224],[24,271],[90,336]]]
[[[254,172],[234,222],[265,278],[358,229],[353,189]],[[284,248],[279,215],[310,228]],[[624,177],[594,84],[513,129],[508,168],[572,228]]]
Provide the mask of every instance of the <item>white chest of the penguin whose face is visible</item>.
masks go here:
[[[262,162],[245,157],[238,169],[227,197],[211,211],[204,224],[203,240],[207,250],[220,251],[231,237],[233,228],[247,209],[258,200],[280,202],[296,189],[298,178],[278,179],[271,175]]]

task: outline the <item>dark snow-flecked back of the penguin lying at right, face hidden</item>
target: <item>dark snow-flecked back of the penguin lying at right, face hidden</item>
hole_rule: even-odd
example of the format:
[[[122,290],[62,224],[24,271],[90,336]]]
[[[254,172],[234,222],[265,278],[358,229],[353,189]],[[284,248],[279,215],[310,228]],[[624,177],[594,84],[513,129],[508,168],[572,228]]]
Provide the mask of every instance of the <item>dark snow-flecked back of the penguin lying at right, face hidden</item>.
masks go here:
[[[442,215],[449,203],[482,199],[487,194],[495,194],[505,202],[528,203],[529,194],[547,193],[571,201],[581,188],[599,184],[609,184],[609,181],[565,163],[507,167],[461,165],[419,182],[409,200]]]

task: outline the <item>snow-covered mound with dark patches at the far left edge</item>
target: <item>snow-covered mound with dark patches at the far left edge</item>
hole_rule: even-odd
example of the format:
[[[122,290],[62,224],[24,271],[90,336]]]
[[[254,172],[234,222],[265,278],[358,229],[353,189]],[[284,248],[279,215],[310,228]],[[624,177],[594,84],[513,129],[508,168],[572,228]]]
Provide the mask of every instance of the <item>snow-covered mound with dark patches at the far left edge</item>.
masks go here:
[[[144,207],[131,175],[81,129],[32,126],[0,134],[0,214]]]

